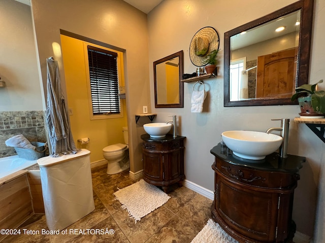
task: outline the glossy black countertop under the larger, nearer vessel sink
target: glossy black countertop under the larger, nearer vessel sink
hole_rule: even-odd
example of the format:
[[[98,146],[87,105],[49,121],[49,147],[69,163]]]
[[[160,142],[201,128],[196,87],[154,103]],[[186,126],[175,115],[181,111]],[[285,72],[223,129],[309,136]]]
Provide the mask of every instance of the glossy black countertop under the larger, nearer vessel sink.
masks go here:
[[[277,152],[269,154],[265,159],[261,160],[240,158],[234,155],[232,150],[220,143],[213,147],[210,152],[230,164],[265,171],[298,172],[303,167],[302,163],[306,161],[305,157],[291,154],[288,154],[287,158],[281,158]]]

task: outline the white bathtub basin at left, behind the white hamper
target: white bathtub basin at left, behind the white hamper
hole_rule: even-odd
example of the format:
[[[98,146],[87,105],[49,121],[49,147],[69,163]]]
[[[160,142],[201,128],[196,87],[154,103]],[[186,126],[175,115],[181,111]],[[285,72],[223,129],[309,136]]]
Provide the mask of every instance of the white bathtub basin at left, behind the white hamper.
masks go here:
[[[18,155],[0,158],[0,180],[34,165],[37,165],[37,160],[27,160]]]

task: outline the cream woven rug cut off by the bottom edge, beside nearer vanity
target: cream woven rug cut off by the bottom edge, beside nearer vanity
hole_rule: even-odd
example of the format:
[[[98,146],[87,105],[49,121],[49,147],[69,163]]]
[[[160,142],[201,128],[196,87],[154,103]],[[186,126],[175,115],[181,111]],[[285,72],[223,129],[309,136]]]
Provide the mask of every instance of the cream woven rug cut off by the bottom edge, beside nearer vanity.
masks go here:
[[[238,241],[227,234],[219,224],[209,219],[191,243],[238,243]]]

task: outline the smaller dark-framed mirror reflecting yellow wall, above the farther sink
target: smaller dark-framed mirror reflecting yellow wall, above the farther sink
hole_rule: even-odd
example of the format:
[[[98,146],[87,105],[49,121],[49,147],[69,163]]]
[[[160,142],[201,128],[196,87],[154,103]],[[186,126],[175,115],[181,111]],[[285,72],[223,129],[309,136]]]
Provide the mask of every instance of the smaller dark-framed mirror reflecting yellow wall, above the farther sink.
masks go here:
[[[155,108],[184,107],[183,51],[153,62]]]

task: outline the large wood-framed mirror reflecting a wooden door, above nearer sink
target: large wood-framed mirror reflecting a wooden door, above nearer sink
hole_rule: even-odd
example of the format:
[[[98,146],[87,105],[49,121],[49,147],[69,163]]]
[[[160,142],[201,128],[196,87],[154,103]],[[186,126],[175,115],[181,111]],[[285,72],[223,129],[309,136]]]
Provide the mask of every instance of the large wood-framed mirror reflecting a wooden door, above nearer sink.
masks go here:
[[[312,16],[313,0],[300,0],[224,33],[224,106],[298,104],[290,98],[308,83]]]

